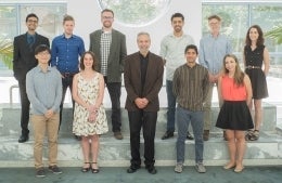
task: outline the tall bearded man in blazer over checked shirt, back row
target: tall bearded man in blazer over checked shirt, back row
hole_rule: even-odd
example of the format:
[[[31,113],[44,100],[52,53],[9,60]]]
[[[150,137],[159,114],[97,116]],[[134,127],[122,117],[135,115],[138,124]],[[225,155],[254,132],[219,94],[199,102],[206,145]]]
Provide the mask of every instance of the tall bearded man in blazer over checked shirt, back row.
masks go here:
[[[98,60],[98,71],[104,76],[105,84],[112,102],[112,131],[117,140],[123,139],[120,132],[120,95],[124,58],[127,55],[126,37],[112,28],[114,12],[105,9],[101,12],[102,29],[90,34],[90,48]]]

